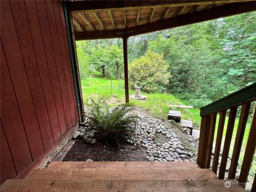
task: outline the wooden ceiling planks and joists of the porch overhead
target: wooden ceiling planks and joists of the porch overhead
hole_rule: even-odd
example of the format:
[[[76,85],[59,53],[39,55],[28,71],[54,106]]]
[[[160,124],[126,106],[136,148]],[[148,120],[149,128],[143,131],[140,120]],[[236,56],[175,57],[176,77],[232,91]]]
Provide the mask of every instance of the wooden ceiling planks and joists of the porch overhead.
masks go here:
[[[113,30],[124,30],[121,32],[117,31],[119,36],[120,34],[127,34],[130,29],[136,30],[134,28],[136,26],[147,25],[148,23],[155,24],[155,22],[161,22],[162,20],[209,10],[223,5],[230,5],[232,7],[232,4],[237,6],[239,3],[243,5],[249,3],[255,5],[254,10],[256,9],[256,1],[252,0],[111,1],[111,3],[102,2],[102,4],[99,2],[101,1],[97,1],[97,4],[93,3],[93,1],[69,2],[69,10],[76,21],[75,23],[73,22],[75,31],[95,31],[95,33],[97,31],[106,31],[108,34],[106,36],[109,37]],[[78,5],[86,6],[78,7]],[[87,10],[89,8],[91,10]],[[239,7],[237,9],[239,10],[238,12],[241,12]],[[203,14],[202,17],[204,17]],[[137,33],[133,32],[133,34]]]

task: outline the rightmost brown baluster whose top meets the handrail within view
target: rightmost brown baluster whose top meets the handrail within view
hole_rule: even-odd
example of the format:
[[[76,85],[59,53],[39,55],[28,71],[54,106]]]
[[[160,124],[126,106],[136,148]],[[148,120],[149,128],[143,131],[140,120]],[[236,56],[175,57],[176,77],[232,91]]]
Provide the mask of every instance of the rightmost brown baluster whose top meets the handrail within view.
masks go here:
[[[241,114],[239,117],[239,123],[238,123],[238,127],[237,127],[237,132],[236,132],[236,140],[235,140],[233,154],[232,154],[232,158],[231,158],[228,179],[235,179],[235,176],[236,176],[238,159],[239,159],[239,155],[240,155],[240,151],[241,151],[241,147],[242,147],[242,143],[243,143],[244,131],[245,131],[250,107],[251,107],[250,101],[243,103],[243,105],[242,105]]]

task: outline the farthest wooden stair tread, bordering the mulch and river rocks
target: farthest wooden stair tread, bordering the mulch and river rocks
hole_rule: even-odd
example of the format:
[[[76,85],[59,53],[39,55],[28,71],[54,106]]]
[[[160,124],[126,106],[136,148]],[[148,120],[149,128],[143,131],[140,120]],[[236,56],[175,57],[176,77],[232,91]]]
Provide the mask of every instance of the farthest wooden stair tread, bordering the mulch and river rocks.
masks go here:
[[[195,162],[52,162],[47,169],[94,169],[94,168],[145,168],[157,167],[158,169],[201,169]]]

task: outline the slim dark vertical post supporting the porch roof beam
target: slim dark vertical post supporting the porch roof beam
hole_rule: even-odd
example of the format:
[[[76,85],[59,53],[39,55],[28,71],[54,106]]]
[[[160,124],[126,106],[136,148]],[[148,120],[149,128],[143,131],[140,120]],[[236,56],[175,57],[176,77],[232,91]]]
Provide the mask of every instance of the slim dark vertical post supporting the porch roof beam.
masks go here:
[[[129,80],[128,80],[128,49],[127,49],[128,37],[123,38],[123,50],[124,50],[124,87],[125,87],[125,102],[129,102]]]

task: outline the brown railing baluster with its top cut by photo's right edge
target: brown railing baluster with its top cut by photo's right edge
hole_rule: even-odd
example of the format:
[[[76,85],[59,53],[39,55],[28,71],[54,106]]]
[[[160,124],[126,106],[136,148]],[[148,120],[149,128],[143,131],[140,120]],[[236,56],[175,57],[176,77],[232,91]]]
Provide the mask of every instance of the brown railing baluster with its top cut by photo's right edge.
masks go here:
[[[250,133],[249,133],[249,137],[248,137],[246,148],[245,148],[244,160],[241,168],[241,173],[239,176],[239,182],[247,181],[247,177],[248,177],[249,170],[252,163],[253,154],[255,152],[255,147],[256,147],[255,135],[256,135],[256,102],[253,108],[251,128],[250,128]]]

